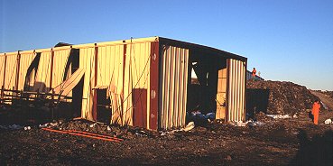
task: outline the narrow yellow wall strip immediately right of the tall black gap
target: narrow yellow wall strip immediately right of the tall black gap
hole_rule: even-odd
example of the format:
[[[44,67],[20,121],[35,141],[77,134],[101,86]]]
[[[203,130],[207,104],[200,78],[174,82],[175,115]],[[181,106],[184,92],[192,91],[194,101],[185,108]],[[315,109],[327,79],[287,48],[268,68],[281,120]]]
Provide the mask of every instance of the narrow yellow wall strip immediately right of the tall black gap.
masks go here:
[[[95,48],[83,48],[79,50],[79,68],[85,69],[82,94],[81,116],[93,120],[92,107],[95,87]]]

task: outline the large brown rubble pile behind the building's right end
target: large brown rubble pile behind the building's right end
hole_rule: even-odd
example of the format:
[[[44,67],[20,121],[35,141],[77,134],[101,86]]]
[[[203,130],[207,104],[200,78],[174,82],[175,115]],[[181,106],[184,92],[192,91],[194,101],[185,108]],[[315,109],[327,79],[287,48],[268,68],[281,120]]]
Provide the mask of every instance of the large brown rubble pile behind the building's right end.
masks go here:
[[[319,99],[306,87],[292,82],[247,81],[246,88],[246,109],[256,113],[262,111],[265,114],[294,115],[311,109],[314,100]],[[267,104],[259,106],[263,105],[263,101],[257,101],[257,98],[264,99]]]

